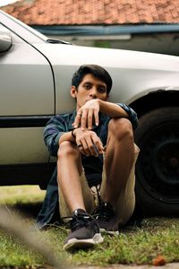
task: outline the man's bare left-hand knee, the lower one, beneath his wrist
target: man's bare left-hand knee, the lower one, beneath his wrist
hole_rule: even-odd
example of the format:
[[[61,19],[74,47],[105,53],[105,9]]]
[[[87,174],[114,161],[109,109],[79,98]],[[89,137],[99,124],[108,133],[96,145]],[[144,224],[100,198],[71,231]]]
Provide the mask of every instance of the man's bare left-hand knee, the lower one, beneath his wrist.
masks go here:
[[[74,155],[78,155],[78,152],[77,150],[75,150],[74,146],[70,141],[64,141],[63,143],[60,144],[57,152],[58,159]]]

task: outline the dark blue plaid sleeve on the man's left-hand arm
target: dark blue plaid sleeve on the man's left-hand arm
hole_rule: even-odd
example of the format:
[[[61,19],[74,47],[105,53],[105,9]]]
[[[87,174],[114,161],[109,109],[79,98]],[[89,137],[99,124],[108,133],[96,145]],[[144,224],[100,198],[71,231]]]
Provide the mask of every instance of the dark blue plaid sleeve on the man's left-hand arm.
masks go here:
[[[60,115],[52,117],[44,129],[44,141],[47,145],[47,149],[50,155],[57,156],[59,147],[59,139],[62,134],[66,132],[66,126],[64,119]]]

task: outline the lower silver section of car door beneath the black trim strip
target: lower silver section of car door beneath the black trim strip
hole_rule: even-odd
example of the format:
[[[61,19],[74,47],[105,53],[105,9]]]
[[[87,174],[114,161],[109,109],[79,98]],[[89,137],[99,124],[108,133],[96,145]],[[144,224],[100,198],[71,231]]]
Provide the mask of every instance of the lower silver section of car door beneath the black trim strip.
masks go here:
[[[49,153],[43,142],[43,127],[1,128],[0,164],[47,162]],[[15,142],[15,143],[14,143]]]

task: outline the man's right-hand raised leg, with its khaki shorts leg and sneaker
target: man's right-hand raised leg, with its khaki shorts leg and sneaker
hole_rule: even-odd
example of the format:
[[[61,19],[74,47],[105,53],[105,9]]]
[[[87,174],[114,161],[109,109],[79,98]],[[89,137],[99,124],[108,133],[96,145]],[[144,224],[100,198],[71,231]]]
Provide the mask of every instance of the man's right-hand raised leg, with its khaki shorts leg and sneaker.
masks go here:
[[[107,152],[98,208],[101,230],[118,230],[132,215],[135,195],[135,161],[139,149],[133,143],[132,125],[125,118],[112,119],[108,126]],[[110,232],[109,232],[110,233]]]

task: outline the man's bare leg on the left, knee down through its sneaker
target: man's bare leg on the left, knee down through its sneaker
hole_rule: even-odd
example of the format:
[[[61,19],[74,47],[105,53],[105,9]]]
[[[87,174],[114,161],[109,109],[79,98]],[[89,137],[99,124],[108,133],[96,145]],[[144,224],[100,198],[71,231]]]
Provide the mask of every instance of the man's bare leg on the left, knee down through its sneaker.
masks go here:
[[[81,172],[81,154],[77,147],[70,142],[61,143],[58,151],[57,179],[60,194],[72,213],[72,231],[64,241],[64,249],[92,247],[103,241],[97,221],[86,212]]]

